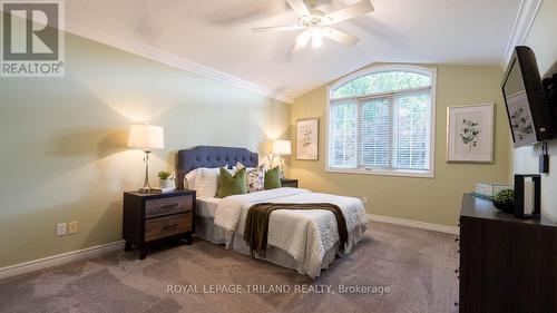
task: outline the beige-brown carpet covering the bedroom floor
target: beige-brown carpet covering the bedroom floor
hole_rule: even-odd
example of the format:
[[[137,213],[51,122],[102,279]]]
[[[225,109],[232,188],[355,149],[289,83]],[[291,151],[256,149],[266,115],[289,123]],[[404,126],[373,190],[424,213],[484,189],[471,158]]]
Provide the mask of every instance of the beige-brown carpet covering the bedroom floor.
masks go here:
[[[381,223],[372,223],[353,253],[316,281],[196,241],[145,261],[115,252],[0,281],[0,312],[457,312],[457,263],[453,236]],[[331,293],[300,292],[312,284]],[[198,293],[169,294],[168,285],[194,285]],[[208,293],[216,285],[240,285],[243,293]],[[253,285],[267,286],[267,293]],[[349,285],[370,287],[339,293]]]

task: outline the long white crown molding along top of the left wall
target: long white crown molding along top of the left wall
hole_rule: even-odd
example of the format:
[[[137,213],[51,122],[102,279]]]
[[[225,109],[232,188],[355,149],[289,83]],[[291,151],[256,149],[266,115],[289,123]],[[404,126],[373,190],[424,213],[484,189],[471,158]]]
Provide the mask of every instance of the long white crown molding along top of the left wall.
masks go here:
[[[247,81],[240,77],[218,71],[216,69],[196,63],[188,59],[178,57],[176,55],[163,51],[160,49],[150,47],[144,43],[131,42],[130,40],[123,40],[114,36],[100,32],[94,28],[86,27],[82,23],[72,20],[71,23],[67,23],[66,32],[70,32],[100,43],[118,48],[120,50],[138,55],[175,68],[187,70],[203,77],[233,86],[243,90],[247,90],[260,96],[272,98],[286,104],[293,104],[294,97],[281,92],[273,91],[266,87],[260,86],[257,84]]]

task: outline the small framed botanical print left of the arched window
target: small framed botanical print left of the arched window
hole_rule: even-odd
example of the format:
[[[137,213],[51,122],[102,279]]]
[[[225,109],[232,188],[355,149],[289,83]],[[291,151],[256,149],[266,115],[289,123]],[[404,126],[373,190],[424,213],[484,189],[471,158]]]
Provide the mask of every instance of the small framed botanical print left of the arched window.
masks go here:
[[[300,119],[296,123],[296,159],[317,159],[319,119]]]

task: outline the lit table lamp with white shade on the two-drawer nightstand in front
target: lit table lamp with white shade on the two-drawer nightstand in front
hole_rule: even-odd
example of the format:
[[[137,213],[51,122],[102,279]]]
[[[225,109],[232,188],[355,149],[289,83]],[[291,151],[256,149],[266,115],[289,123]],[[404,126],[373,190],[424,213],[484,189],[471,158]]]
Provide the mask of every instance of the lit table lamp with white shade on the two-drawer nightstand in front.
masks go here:
[[[150,193],[149,185],[149,154],[154,149],[165,148],[164,129],[154,125],[131,125],[129,127],[128,147],[145,151],[145,182],[140,193]]]

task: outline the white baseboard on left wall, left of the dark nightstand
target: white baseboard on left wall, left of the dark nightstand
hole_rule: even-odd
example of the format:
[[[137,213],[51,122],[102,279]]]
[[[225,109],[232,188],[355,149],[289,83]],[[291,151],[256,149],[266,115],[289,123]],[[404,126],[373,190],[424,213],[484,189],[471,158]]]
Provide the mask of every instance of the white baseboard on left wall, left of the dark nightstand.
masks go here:
[[[109,244],[91,246],[88,248],[82,248],[78,251],[71,251],[62,254],[57,254],[52,256],[47,256],[39,260],[33,260],[25,263],[19,263],[6,267],[0,267],[0,280],[21,275],[35,271],[39,271],[42,268],[61,265],[65,263],[90,258],[95,256],[99,256],[104,253],[117,251],[124,248],[124,241],[114,242]]]

